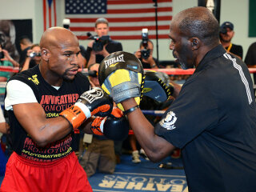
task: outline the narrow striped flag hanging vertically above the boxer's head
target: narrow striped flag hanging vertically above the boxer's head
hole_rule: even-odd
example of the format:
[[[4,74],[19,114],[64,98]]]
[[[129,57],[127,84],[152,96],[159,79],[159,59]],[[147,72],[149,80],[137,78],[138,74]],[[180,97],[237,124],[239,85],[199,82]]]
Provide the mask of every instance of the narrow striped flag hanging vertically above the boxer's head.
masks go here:
[[[57,26],[56,2],[55,0],[42,0],[43,28],[44,30]]]

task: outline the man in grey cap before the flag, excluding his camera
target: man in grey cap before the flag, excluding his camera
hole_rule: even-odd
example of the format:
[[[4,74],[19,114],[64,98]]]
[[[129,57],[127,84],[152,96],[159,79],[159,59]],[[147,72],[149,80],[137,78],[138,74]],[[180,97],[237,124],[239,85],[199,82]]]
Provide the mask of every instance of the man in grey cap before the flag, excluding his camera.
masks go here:
[[[104,35],[108,35],[109,30],[109,22],[106,20],[106,18],[98,18],[96,20],[94,31],[99,38],[102,38]],[[87,46],[87,53],[90,55],[88,66],[95,62],[101,63],[106,55],[122,50],[121,42],[116,42],[110,39],[110,41],[103,46],[102,50],[96,51],[93,50],[94,42],[94,40],[90,41]]]

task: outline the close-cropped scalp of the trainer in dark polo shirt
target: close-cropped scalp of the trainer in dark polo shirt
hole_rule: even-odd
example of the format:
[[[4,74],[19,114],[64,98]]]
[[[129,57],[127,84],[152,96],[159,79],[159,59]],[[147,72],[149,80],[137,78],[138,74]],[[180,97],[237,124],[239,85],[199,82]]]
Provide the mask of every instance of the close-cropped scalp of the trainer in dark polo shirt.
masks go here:
[[[182,10],[174,16],[171,25],[177,25],[180,34],[184,36],[200,38],[207,46],[219,43],[218,21],[206,7]]]

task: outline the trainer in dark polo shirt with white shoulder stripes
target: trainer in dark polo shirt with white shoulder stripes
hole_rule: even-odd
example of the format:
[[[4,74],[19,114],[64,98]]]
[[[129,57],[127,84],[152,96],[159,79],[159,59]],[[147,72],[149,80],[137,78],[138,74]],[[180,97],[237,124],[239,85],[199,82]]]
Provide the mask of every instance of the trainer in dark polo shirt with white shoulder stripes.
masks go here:
[[[190,192],[254,192],[256,114],[249,70],[220,45],[218,21],[204,7],[182,10],[174,16],[169,36],[170,50],[182,68],[196,69],[178,96],[174,90],[177,98],[161,121],[152,126],[135,102],[141,85],[134,78],[118,76],[118,66],[129,62],[126,54],[124,62],[108,66],[106,74],[99,71],[110,82],[119,79],[114,82],[118,89],[113,84],[110,96],[124,107],[130,126],[151,161],[166,158],[175,147],[182,149]],[[106,57],[102,65],[111,57],[112,54]],[[117,70],[107,74],[108,68],[113,67]],[[134,69],[132,65],[122,67],[129,70],[131,77]]]

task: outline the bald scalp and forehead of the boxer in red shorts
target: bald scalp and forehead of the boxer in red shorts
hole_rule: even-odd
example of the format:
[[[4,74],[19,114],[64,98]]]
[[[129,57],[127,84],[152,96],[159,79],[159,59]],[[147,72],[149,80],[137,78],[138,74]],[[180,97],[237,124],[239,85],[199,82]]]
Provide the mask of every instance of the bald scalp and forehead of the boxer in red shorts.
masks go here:
[[[51,27],[42,34],[40,47],[50,49],[50,47],[64,47],[70,44],[79,46],[78,38],[70,31],[63,27]]]

